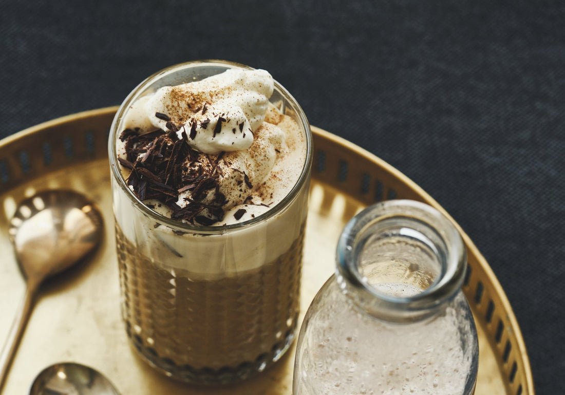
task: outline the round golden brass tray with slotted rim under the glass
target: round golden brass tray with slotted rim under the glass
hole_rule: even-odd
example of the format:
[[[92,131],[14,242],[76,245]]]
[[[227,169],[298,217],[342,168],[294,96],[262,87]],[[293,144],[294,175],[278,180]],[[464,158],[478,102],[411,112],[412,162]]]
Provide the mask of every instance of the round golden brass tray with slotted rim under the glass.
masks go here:
[[[88,264],[46,284],[4,389],[24,394],[51,363],[76,361],[106,374],[124,395],[290,395],[294,349],[264,374],[230,387],[199,388],[172,381],[142,362],[127,341],[119,311],[118,265],[107,160],[107,134],[117,107],[69,115],[0,141],[0,342],[7,337],[24,280],[8,241],[16,204],[36,190],[72,188],[101,207],[106,235]],[[337,237],[363,207],[389,198],[427,202],[446,214],[419,186],[379,158],[318,128],[306,232],[302,313],[332,274]],[[533,395],[520,328],[501,285],[470,238],[470,271],[463,290],[479,332],[477,395]]]

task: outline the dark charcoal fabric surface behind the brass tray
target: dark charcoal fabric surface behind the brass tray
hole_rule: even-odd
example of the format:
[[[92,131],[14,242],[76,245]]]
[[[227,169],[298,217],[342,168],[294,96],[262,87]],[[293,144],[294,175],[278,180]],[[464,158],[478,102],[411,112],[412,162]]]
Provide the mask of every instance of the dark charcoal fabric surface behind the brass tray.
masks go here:
[[[1,0],[0,137],[118,105],[174,63],[264,68],[311,124],[457,220],[506,290],[537,392],[562,393],[565,3],[210,3]]]

